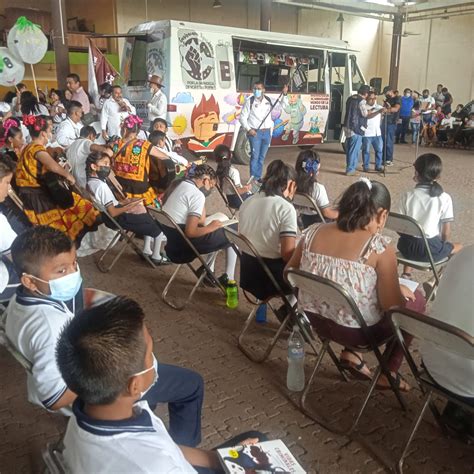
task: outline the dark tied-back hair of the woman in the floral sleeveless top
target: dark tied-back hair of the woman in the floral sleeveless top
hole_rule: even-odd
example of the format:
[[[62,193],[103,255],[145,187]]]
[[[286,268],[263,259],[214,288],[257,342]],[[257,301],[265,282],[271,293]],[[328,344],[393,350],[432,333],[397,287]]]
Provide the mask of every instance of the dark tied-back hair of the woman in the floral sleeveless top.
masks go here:
[[[390,211],[391,198],[386,186],[367,178],[351,184],[339,201],[337,227],[343,232],[364,229],[379,209]]]

